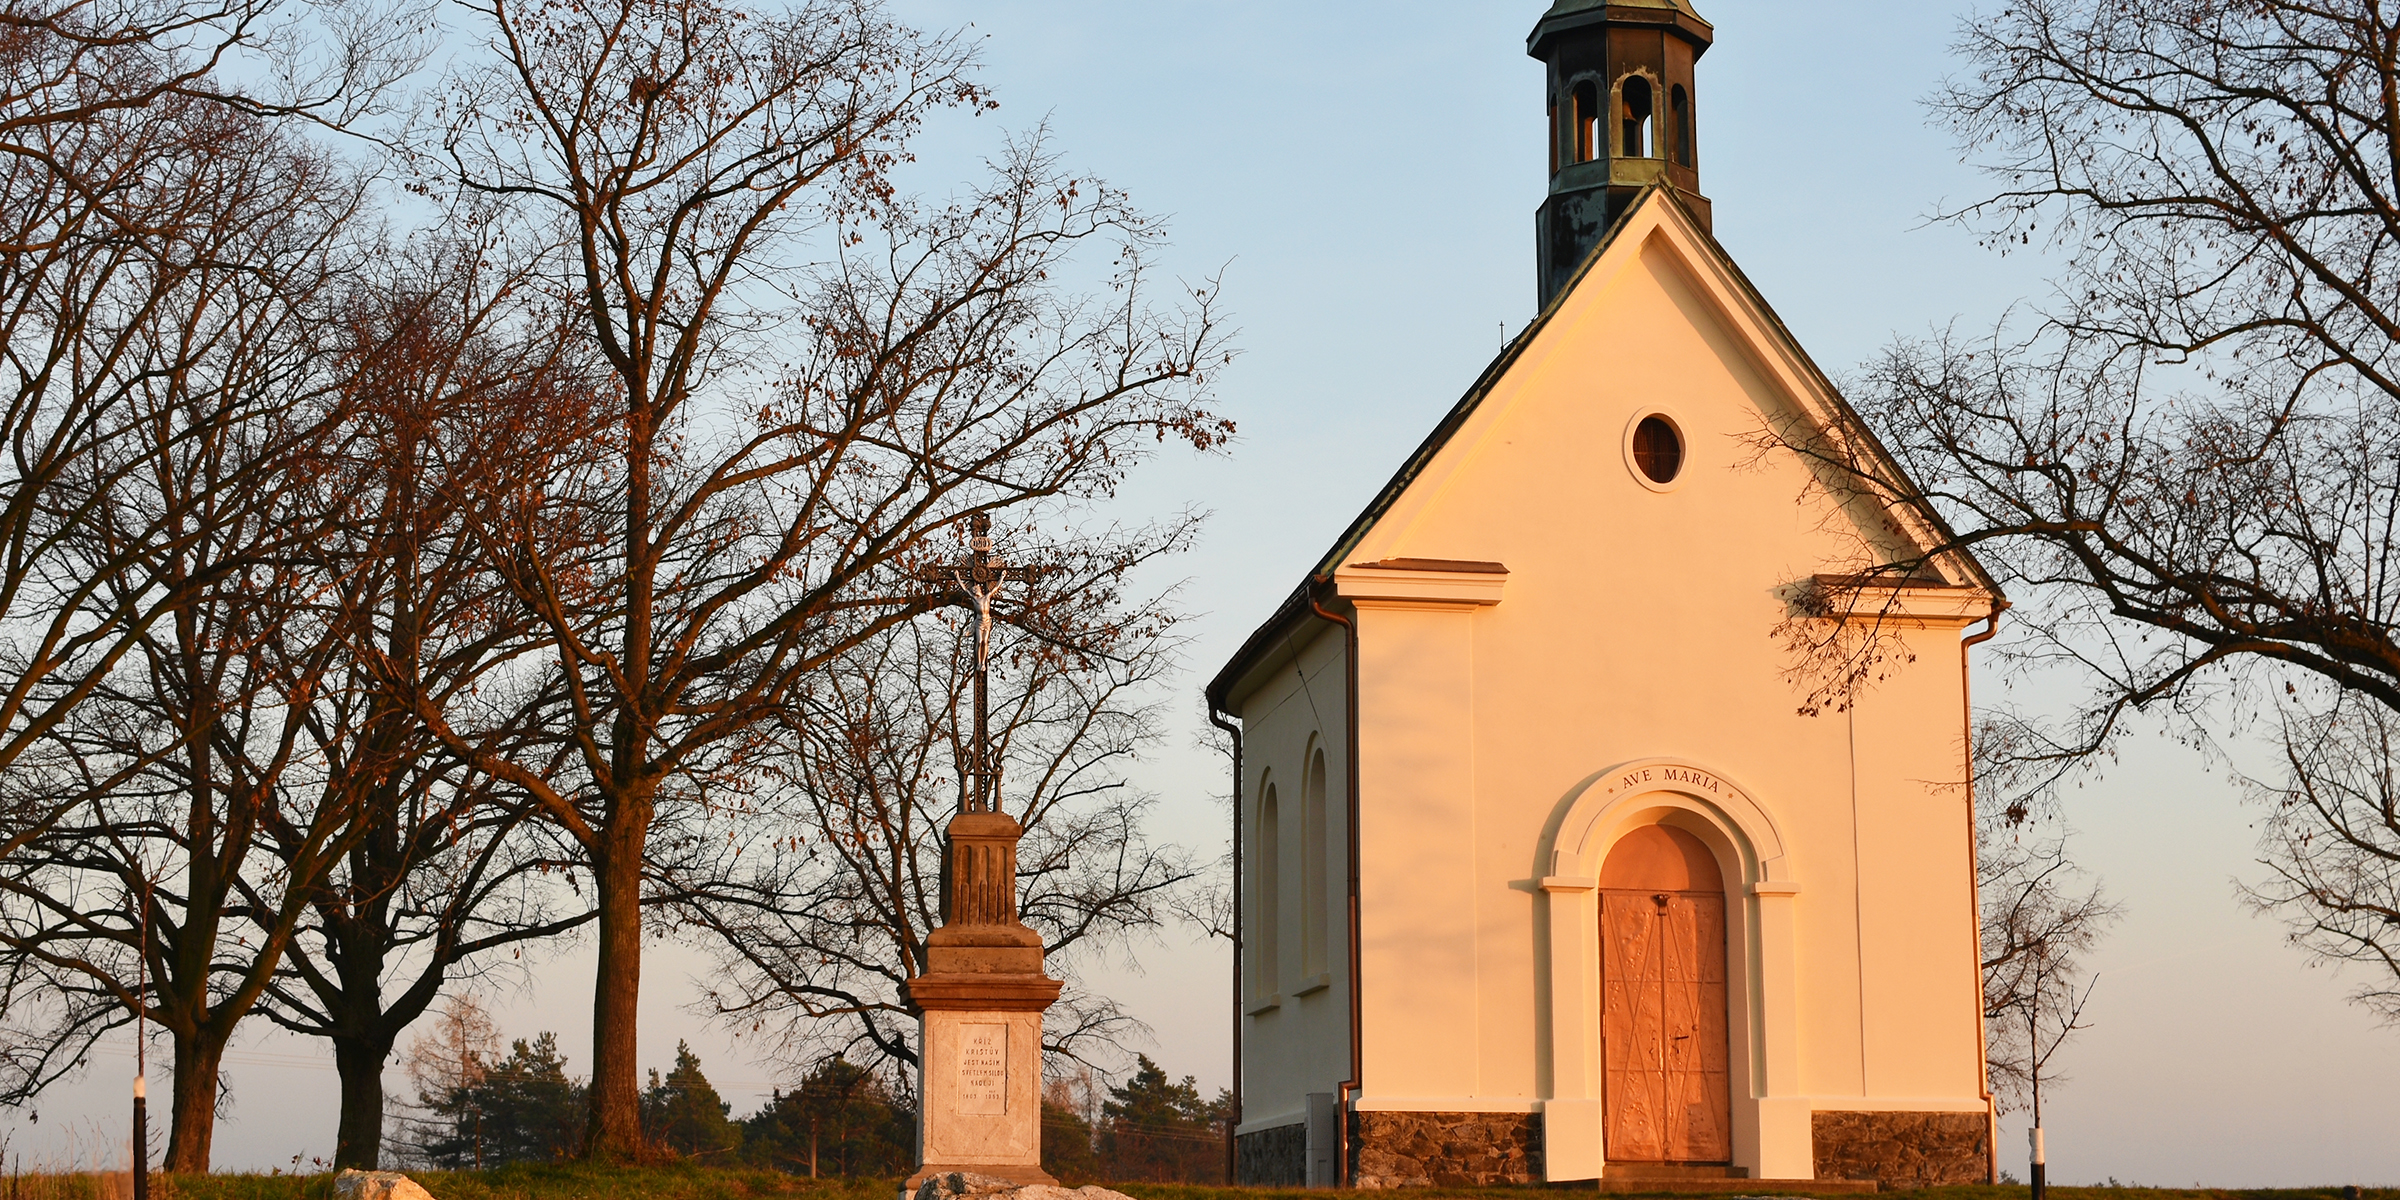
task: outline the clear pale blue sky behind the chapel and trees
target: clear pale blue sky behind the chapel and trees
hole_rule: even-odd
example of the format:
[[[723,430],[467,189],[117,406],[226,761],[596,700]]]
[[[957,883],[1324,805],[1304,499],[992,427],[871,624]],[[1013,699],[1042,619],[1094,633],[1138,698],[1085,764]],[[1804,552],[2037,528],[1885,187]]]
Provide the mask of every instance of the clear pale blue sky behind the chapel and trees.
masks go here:
[[[1298,581],[1399,458],[1534,312],[1534,206],[1543,190],[1541,70],[1524,34],[1543,0],[893,0],[929,26],[984,38],[1001,110],[938,125],[926,175],[965,178],[994,137],[1049,120],[1080,170],[1171,216],[1169,266],[1226,269],[1243,358],[1222,374],[1241,422],[1226,458],[1169,461],[1130,511],[1200,504],[1205,545],[1176,566],[1195,622],[1188,691]],[[1716,235],[1819,365],[1841,377],[1894,331],[1987,322],[2040,302],[2040,254],[2011,259],[1927,226],[1978,175],[1920,96],[1954,70],[1968,5],[1702,0],[1716,48],[1699,65],[1702,190]],[[955,163],[955,168],[950,168]],[[1978,698],[2006,696],[1982,677]],[[2018,694],[2040,706],[2040,694]],[[1198,701],[1178,698],[1195,722]],[[1224,842],[1222,768],[1183,749],[1145,782],[1162,833]],[[2062,1183],[2400,1183],[2400,1032],[2342,1001],[2280,931],[2249,917],[2251,814],[2220,775],[2141,742],[2069,797],[2078,857],[2126,902],[2095,955],[2093,1030],[2050,1109]],[[1202,1087],[1226,1082],[1226,953],[1183,934],[1138,946],[1099,982],[1142,1015],[1150,1054]],[[689,1037],[734,1111],[773,1075],[682,1006],[696,962],[646,972],[643,1058]],[[590,960],[569,950],[502,996],[511,1037],[557,1030],[588,1058]],[[218,1164],[329,1154],[331,1061],[254,1032],[230,1063]],[[571,1063],[571,1066],[574,1066]],[[7,1121],[26,1162],[120,1145],[130,1054]],[[156,1068],[154,1068],[156,1070]],[[163,1082],[163,1073],[161,1073]],[[2023,1162],[2021,1126],[2002,1140]],[[2018,1166],[2021,1171],[2021,1166]]]

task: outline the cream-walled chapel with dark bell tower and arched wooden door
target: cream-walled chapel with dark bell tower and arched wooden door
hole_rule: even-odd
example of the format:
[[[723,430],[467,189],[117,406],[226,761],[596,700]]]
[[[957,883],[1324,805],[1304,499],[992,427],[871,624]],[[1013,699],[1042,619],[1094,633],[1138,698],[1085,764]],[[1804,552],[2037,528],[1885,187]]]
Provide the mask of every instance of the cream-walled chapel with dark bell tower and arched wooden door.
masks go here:
[[[1874,446],[1709,233],[1711,38],[1538,19],[1541,314],[1207,686],[1241,1183],[1994,1174],[1966,658],[2004,600],[1762,437]],[[1860,605],[1891,653],[1807,703],[1786,634]]]

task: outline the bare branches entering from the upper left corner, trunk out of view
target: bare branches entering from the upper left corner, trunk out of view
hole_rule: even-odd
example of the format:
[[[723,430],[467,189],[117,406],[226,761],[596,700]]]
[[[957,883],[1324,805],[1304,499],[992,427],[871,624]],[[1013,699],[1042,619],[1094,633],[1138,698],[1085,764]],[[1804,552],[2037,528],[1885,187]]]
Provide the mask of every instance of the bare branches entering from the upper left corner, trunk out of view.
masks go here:
[[[190,187],[259,149],[264,118],[343,125],[422,53],[406,10],[274,0],[0,2],[0,768],[17,763],[125,660],[182,593],[98,602],[60,535],[139,454],[134,391],[146,305],[187,302],[190,254],[228,250],[226,211]],[[223,67],[240,60],[245,84]],[[269,247],[259,252],[271,254]],[[182,259],[182,262],[178,262]],[[247,262],[240,254],[226,262]],[[266,264],[257,264],[266,266]],[[139,545],[170,538],[149,530]],[[194,581],[197,583],[197,581]],[[0,852],[60,806],[0,814]]]

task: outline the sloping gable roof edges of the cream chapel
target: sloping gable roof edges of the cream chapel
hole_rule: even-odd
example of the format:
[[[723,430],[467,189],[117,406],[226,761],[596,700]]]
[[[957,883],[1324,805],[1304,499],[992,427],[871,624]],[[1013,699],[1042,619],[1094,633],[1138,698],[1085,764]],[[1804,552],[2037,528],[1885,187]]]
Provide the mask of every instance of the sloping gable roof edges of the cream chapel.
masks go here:
[[[1574,0],[1560,0],[1560,2],[1565,7],[1572,5]],[[1500,355],[1483,367],[1474,386],[1469,386],[1466,394],[1459,396],[1459,403],[1450,406],[1450,413],[1445,413],[1442,420],[1435,422],[1433,432],[1426,434],[1426,439],[1416,446],[1416,451],[1411,451],[1409,458],[1399,463],[1399,470],[1394,470],[1392,478],[1382,485],[1382,490],[1375,492],[1375,499],[1370,499],[1368,506],[1356,518],[1351,518],[1349,528],[1344,528],[1342,535],[1334,538],[1334,545],[1301,578],[1301,583],[1291,590],[1291,595],[1286,595],[1284,602],[1277,605],[1274,612],[1255,631],[1250,631],[1248,638],[1243,638],[1241,648],[1234,650],[1234,658],[1229,658],[1224,667],[1217,672],[1217,677],[1210,679],[1207,684],[1205,694],[1212,708],[1222,710],[1224,701],[1229,698],[1226,696],[1229,689],[1250,670],[1250,665],[1255,665],[1272,646],[1286,638],[1296,622],[1310,617],[1310,610],[1318,607],[1318,602],[1330,590],[1332,574],[1337,566],[1342,566],[1342,559],[1346,559],[1354,550],[1358,550],[1358,542],[1366,540],[1366,535],[1375,528],[1375,523],[1382,521],[1394,504],[1399,504],[1399,499],[1409,492],[1409,487],[1418,480],[1418,475],[1423,475],[1423,470],[1433,463],[1433,458],[1445,446],[1450,446],[1450,439],[1457,437],[1462,427],[1466,427],[1469,418],[1476,415],[1476,408],[1483,406],[1483,401],[1493,394],[1500,379],[1507,377],[1507,372],[1524,358],[1524,353],[1534,346],[1534,341],[1543,334],[1543,329],[1548,329],[1548,324],[1560,314],[1560,310],[1565,310],[1567,300],[1577,293],[1577,288],[1584,286],[1584,278],[1591,276],[1591,271],[1601,264],[1601,259],[1608,257],[1610,247],[1615,247],[1615,242],[1625,238],[1627,230],[1654,223],[1644,221],[1644,216],[1651,209],[1658,209],[1656,221],[1675,221],[1682,228],[1682,233],[1687,233],[1702,247],[1709,262],[1726,274],[1726,278],[1740,293],[1740,300],[1766,326],[1769,336],[1790,355],[1795,367],[1802,372],[1805,384],[1834,408],[1831,418],[1848,425],[1862,437],[1865,446],[1877,458],[1877,466],[1882,470],[1889,470],[1894,478],[1906,475],[1898,466],[1898,458],[1894,458],[1891,451],[1884,446],[1884,442],[1874,437],[1874,430],[1870,430],[1867,422],[1860,420],[1858,410],[1850,408],[1850,401],[1843,398],[1841,389],[1836,389],[1834,382],[1824,374],[1824,370],[1817,367],[1817,360],[1810,358],[1810,353],[1800,346],[1800,338],[1793,336],[1793,331],[1783,324],[1783,317],[1778,317],[1776,310],[1766,302],[1766,298],[1759,295],[1759,290],[1750,283],[1750,276],[1742,274],[1742,269],[1733,262],[1726,247],[1718,245],[1718,240],[1709,233],[1709,228],[1692,216],[1692,209],[1685,206],[1682,199],[1678,199],[1673,187],[1654,182],[1644,187],[1632,199],[1632,204],[1625,206],[1625,211],[1608,228],[1608,233],[1601,235],[1598,245],[1591,247],[1591,254],[1584,254],[1584,262],[1574,269],[1574,276],[1567,278],[1567,286],[1558,288],[1550,302],[1543,305],[1541,312],[1534,314],[1534,319],[1522,331],[1517,331],[1517,336],[1510,338],[1507,346],[1500,348]],[[1937,542],[1956,542],[1956,533],[1951,533],[1942,514],[1937,514],[1925,504],[1913,504],[1913,509],[1915,518],[1922,523],[1920,533],[1930,533],[1932,540]],[[1992,576],[1982,569],[1980,562],[1975,562],[1970,552],[1961,550],[1949,557],[1956,559],[1970,576],[1968,583],[1970,588],[1990,593],[1994,600],[1999,600],[2002,595],[1999,583],[1992,581]]]

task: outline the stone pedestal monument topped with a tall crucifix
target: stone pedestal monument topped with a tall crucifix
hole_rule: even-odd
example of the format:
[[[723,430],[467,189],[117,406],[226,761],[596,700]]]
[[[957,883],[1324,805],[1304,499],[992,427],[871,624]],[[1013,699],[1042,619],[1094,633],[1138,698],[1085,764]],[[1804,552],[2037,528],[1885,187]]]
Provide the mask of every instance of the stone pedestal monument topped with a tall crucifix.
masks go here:
[[[1042,974],[1042,934],[1018,919],[1018,838],[998,804],[984,698],[991,600],[1032,578],[991,552],[991,518],[972,523],[974,552],[934,574],[974,607],[974,746],[960,814],[941,854],[941,929],[924,941],[917,1006],[917,1174],[974,1171],[1015,1183],[1058,1183],[1042,1171],[1042,1013],[1058,979]]]

